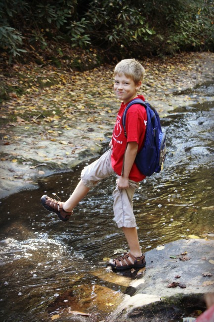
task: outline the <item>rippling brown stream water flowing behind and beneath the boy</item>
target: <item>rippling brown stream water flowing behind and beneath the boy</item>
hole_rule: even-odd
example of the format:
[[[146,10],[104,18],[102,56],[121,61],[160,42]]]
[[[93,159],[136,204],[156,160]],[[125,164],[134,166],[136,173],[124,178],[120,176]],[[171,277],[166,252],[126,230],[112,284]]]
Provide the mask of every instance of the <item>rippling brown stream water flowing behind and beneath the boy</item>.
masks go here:
[[[204,104],[177,108],[163,119],[165,170],[146,178],[135,193],[144,252],[214,231],[214,85],[195,89],[192,97],[201,93]],[[101,321],[126,292],[130,277],[112,272],[105,261],[127,250],[113,219],[115,177],[92,189],[70,221],[40,205],[43,194],[67,199],[85,164],[43,179],[36,191],[1,201],[0,321]]]

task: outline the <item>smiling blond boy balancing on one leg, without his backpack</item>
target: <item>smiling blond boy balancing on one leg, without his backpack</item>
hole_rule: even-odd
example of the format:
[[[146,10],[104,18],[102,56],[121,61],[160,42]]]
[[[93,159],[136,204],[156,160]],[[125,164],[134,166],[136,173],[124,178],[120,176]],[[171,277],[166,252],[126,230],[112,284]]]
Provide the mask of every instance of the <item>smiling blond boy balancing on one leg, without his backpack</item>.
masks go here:
[[[66,202],[58,202],[45,195],[41,198],[44,208],[66,221],[90,188],[96,186],[101,179],[116,174],[117,186],[113,192],[114,215],[118,227],[123,229],[130,249],[128,253],[109,261],[111,267],[117,270],[142,268],[146,265],[145,256],[139,246],[132,205],[134,191],[139,187],[138,182],[145,178],[134,162],[144,143],[147,121],[145,108],[134,104],[128,109],[127,137],[122,125],[123,112],[128,103],[136,97],[145,100],[142,95],[137,95],[144,73],[143,66],[135,59],[124,59],[116,65],[114,91],[123,103],[117,115],[109,144],[110,150],[83,169],[79,184]]]

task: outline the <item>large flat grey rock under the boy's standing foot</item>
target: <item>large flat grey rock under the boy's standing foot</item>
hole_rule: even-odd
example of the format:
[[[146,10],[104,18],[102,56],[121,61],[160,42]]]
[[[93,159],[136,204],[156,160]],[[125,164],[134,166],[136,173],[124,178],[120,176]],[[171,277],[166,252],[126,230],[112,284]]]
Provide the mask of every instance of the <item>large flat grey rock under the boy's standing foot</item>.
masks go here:
[[[185,305],[185,302],[190,303],[189,298],[194,298],[194,303],[202,303],[203,294],[214,292],[214,240],[177,240],[157,247],[145,255],[146,270],[140,275],[136,274],[135,280],[127,288],[123,302],[109,321],[129,321],[130,317],[130,321],[150,321],[135,320],[134,316],[141,315],[142,319],[143,311],[146,312],[151,303],[155,310],[154,304],[157,303],[160,309],[164,301],[167,312],[167,307],[169,310],[170,307],[174,308],[178,299],[179,303],[184,299],[182,305]],[[173,282],[177,286],[168,287]],[[134,315],[133,312],[137,308],[138,314]]]

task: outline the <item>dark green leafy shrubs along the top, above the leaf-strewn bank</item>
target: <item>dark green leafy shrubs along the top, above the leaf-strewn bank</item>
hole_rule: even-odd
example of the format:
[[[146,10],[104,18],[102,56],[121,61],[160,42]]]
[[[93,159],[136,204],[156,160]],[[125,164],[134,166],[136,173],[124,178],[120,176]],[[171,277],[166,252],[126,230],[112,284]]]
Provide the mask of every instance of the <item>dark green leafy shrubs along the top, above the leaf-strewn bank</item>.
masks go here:
[[[212,0],[0,0],[1,59],[54,60],[77,68],[127,56],[214,51]],[[68,53],[69,52],[69,53]],[[79,54],[77,54],[79,53]]]

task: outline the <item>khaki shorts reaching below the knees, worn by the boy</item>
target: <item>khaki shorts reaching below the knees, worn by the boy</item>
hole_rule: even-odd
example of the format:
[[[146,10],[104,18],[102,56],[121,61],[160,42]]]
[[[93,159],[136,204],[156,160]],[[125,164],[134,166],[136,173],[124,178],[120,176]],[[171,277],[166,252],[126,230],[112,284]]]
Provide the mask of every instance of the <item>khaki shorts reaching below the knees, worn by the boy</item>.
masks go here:
[[[81,179],[87,188],[95,187],[96,184],[111,175],[114,172],[111,165],[111,149],[106,151],[98,160],[87,165],[82,173]],[[133,195],[139,183],[129,180],[129,188],[120,190],[117,186],[113,192],[114,196],[114,216],[119,228],[136,227],[136,221],[133,214]]]

